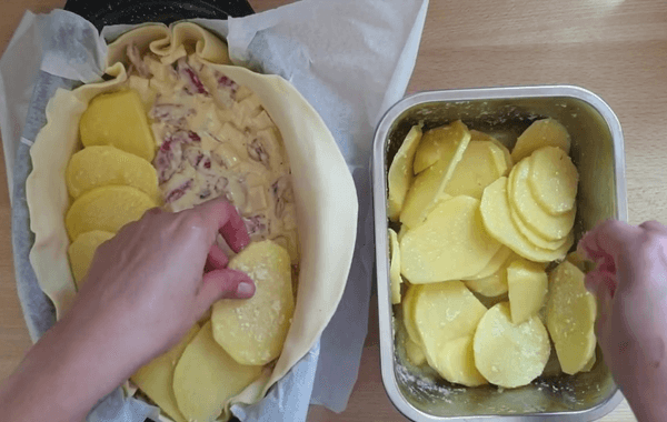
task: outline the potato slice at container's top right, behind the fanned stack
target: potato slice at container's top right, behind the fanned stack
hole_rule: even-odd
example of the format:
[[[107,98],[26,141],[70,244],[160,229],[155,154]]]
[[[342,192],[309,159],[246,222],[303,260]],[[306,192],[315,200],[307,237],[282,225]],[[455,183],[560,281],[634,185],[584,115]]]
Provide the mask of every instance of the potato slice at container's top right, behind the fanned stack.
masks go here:
[[[542,147],[558,147],[569,154],[570,137],[567,129],[555,119],[537,120],[517,139],[511,151],[514,162],[519,162]]]

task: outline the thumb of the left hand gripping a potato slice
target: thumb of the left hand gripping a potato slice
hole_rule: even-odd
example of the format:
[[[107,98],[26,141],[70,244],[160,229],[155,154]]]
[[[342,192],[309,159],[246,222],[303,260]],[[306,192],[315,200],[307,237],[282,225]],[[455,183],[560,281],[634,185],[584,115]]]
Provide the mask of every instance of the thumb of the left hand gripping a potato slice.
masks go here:
[[[197,294],[198,315],[203,314],[220,299],[249,299],[255,294],[255,282],[248,274],[237,270],[219,269],[203,274]]]

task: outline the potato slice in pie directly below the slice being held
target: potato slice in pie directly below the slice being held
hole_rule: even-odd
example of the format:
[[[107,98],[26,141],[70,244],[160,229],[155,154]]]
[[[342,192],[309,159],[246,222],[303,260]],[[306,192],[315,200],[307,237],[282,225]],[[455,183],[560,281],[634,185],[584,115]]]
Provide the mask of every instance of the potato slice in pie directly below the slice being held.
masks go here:
[[[213,340],[211,322],[199,330],[173,371],[173,395],[187,421],[212,422],[225,403],[261,375],[262,366],[242,365]]]

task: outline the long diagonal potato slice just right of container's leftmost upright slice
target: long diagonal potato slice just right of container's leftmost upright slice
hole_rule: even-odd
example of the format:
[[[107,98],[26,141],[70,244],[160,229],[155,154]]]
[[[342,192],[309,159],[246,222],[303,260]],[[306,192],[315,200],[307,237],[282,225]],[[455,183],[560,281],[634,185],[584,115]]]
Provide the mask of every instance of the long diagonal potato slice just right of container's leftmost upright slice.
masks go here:
[[[455,122],[451,125],[458,129],[448,132],[450,137],[441,144],[438,161],[415,178],[406,197],[400,221],[410,229],[420,224],[440,200],[470,141],[470,132],[464,123]]]

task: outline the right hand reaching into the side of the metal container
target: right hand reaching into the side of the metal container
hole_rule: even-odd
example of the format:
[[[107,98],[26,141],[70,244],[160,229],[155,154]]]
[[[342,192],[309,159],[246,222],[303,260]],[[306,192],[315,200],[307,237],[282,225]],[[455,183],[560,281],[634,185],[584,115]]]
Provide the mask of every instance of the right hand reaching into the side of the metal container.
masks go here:
[[[607,221],[579,252],[597,265],[586,287],[598,299],[605,362],[640,420],[667,420],[667,228]]]

